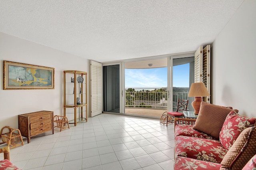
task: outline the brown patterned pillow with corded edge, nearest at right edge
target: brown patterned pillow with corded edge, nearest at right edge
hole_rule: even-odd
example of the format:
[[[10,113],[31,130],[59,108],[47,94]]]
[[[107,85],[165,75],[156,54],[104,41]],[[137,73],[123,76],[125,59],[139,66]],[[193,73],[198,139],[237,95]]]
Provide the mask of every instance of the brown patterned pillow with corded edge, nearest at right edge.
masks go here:
[[[240,133],[224,156],[221,169],[241,170],[255,153],[256,127],[248,127]]]

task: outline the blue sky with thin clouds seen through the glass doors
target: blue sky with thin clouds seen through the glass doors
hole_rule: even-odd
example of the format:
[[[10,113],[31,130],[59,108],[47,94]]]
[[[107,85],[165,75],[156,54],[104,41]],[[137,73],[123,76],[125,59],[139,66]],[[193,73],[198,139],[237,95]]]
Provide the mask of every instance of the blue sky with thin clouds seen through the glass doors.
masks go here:
[[[174,87],[189,87],[189,63],[173,67]],[[167,67],[125,69],[125,88],[167,87]]]

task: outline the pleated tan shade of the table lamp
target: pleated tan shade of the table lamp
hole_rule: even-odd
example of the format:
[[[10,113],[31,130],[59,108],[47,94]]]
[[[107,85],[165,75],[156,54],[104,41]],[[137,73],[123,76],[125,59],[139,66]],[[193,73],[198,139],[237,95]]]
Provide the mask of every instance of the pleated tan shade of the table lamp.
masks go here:
[[[188,97],[205,97],[210,96],[203,82],[192,83],[188,92]]]

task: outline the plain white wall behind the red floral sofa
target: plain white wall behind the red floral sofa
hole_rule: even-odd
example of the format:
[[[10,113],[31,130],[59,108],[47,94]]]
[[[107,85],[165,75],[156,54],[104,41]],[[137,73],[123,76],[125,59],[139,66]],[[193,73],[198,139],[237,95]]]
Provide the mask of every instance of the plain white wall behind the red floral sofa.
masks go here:
[[[256,0],[245,0],[212,43],[212,103],[256,117]]]

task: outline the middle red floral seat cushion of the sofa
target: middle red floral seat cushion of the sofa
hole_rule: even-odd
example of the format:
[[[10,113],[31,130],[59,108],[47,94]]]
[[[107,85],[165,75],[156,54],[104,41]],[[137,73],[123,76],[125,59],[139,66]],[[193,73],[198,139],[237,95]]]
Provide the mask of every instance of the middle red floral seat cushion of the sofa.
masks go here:
[[[218,140],[176,136],[175,156],[220,163],[227,150]]]

